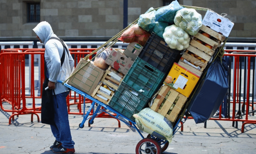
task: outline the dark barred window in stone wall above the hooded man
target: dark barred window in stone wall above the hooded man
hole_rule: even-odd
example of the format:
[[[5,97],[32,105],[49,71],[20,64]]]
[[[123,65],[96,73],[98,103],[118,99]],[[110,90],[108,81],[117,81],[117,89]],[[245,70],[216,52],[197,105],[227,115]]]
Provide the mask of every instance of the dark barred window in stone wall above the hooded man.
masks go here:
[[[27,22],[34,23],[40,22],[40,2],[28,2],[27,3]]]

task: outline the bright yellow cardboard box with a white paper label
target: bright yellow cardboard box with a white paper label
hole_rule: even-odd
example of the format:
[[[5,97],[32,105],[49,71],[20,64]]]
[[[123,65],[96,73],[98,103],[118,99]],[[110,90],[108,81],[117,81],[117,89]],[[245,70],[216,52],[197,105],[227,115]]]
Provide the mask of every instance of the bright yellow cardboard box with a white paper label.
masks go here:
[[[199,78],[198,75],[174,63],[163,83],[189,97]]]

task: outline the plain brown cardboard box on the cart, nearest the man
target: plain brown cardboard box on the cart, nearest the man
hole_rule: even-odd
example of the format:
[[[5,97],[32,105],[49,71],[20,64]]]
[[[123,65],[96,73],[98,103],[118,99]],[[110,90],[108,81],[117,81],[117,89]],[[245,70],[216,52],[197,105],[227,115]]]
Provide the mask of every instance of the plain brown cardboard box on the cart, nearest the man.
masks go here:
[[[76,72],[75,75],[72,76],[67,83],[87,93],[88,95],[91,95],[101,80],[102,76],[104,75],[105,71],[94,66],[92,62],[84,66],[87,62],[88,61],[84,60],[83,58],[80,59],[73,73],[76,72],[80,67],[82,67],[82,69]]]

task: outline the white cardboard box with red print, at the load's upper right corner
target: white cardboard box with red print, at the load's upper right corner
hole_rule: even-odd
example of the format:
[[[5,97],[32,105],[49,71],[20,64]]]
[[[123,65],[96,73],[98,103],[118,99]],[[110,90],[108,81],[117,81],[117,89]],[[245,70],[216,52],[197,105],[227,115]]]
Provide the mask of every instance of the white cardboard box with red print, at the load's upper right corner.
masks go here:
[[[228,18],[225,18],[211,10],[207,10],[202,23],[203,25],[209,26],[211,29],[222,33],[226,37],[228,37],[234,26],[234,23],[232,23]]]

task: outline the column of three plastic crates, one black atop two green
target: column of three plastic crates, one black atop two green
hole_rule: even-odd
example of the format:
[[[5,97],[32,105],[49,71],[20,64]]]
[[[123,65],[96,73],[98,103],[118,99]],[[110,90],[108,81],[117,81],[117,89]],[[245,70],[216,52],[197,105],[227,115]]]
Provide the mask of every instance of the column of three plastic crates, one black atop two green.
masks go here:
[[[179,53],[152,33],[108,105],[135,120],[133,114],[139,113],[158,91]]]

